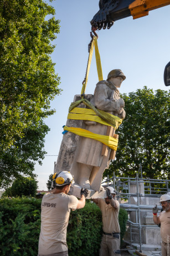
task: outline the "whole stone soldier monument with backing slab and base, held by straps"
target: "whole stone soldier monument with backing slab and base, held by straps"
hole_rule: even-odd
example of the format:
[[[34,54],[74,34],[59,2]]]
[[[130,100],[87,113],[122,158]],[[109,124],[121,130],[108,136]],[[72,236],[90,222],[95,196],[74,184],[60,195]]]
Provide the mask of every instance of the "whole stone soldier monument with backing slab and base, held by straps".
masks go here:
[[[98,82],[94,95],[85,95],[86,99],[97,109],[124,119],[125,110],[123,107],[125,106],[125,102],[120,98],[118,88],[125,78],[121,70],[110,71],[107,81]],[[74,101],[80,99],[80,95],[75,95]],[[86,106],[81,103],[78,107],[85,108]],[[115,136],[113,127],[94,121],[68,119],[66,126],[80,127],[95,134]],[[110,159],[114,159],[114,157],[111,157],[111,155],[113,156],[112,151],[110,147],[105,146],[97,140],[75,135],[72,132],[66,132],[61,142],[54,172],[70,171],[75,181],[73,195],[78,196],[81,187],[84,187],[91,190],[89,190],[89,198],[91,198],[96,191],[100,193],[103,190],[101,186],[102,174],[109,167]],[[96,198],[104,196],[103,192],[101,191],[100,195],[97,192],[98,194],[95,195]]]

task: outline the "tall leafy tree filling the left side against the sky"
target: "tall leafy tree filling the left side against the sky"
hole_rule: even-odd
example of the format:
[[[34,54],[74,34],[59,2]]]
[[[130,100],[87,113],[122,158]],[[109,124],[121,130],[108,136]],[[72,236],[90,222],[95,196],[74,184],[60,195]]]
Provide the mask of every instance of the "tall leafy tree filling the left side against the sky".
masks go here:
[[[43,119],[54,114],[50,101],[60,93],[50,57],[59,33],[54,14],[43,0],[0,2],[0,186],[31,175],[43,159]]]

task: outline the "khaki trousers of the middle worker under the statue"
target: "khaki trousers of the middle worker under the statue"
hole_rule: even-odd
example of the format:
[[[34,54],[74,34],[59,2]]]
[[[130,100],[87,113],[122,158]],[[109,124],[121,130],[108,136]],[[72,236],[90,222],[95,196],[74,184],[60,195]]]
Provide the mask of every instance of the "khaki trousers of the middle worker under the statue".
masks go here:
[[[120,236],[119,238],[114,238],[111,235],[103,234],[100,244],[99,255],[120,256]]]

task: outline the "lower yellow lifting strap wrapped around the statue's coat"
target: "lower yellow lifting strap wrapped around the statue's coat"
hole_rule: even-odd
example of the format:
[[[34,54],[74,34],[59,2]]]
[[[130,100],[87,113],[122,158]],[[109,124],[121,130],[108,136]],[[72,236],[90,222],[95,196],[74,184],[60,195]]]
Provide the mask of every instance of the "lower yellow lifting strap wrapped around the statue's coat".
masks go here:
[[[85,130],[85,129],[76,128],[76,127],[68,127],[68,126],[64,126],[64,131],[71,131],[74,134],[77,134],[79,136],[88,137],[90,139],[100,141],[103,144],[105,144],[106,146],[109,146],[111,149],[113,149],[115,151],[117,150],[118,140],[113,137],[106,136],[106,135],[100,135],[100,134],[94,134],[93,132]]]

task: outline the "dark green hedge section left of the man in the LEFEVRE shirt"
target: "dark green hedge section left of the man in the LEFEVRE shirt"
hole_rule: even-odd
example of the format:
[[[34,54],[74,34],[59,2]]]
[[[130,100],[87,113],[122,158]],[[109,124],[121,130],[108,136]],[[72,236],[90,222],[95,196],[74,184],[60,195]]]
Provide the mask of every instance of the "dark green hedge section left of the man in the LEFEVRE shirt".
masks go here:
[[[0,255],[38,254],[40,199],[0,200]]]

